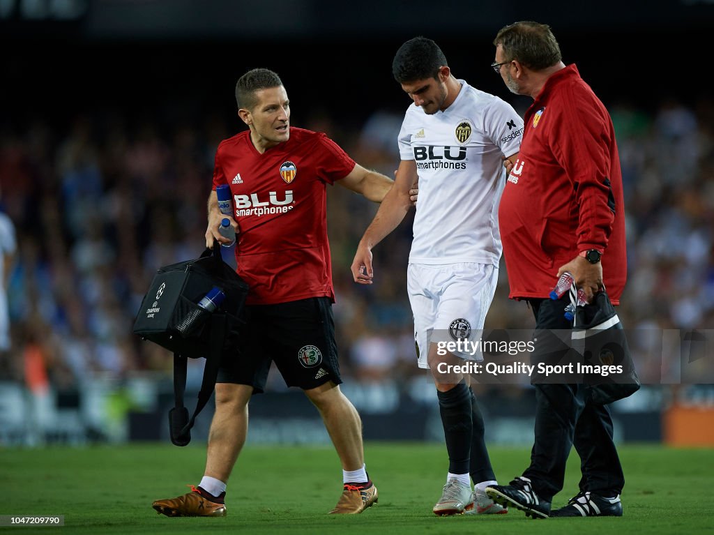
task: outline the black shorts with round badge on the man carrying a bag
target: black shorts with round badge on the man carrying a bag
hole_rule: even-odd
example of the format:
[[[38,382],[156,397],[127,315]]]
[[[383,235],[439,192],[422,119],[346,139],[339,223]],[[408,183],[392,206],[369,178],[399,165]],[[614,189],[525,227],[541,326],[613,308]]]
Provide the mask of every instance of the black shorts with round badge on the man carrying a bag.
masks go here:
[[[223,357],[216,382],[248,384],[260,393],[273,361],[287,386],[308,390],[342,382],[328,297],[246,306],[240,345],[236,355]]]

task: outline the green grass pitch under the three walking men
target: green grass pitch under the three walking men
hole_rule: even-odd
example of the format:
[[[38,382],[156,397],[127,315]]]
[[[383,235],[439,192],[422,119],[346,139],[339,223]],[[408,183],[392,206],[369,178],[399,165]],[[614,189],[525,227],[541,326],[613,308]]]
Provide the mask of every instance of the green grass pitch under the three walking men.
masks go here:
[[[64,527],[0,527],[3,533],[58,534],[714,534],[709,490],[714,450],[620,446],[627,484],[625,516],[531,520],[521,511],[498,516],[438,517],[448,464],[438,444],[373,442],[367,468],[379,503],[364,514],[327,515],[341,492],[341,469],[328,446],[248,444],[228,486],[225,518],[168,518],[154,499],[178,496],[203,474],[205,444],[0,449],[0,515],[64,514]],[[491,448],[499,482],[521,474],[527,449]],[[555,506],[577,492],[573,451],[565,489]],[[353,531],[354,530],[354,531]]]

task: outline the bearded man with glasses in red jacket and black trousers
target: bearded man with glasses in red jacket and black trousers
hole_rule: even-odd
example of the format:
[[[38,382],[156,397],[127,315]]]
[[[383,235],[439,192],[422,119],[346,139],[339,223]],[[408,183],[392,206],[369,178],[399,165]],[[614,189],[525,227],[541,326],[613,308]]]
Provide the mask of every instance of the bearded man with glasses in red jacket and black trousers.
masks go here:
[[[531,304],[536,334],[546,339],[547,331],[572,329],[563,314],[567,292],[548,299],[565,271],[588,301],[607,286],[613,304],[619,303],[627,273],[620,159],[608,111],[575,65],[563,64],[547,25],[516,22],[501,29],[493,44],[493,69],[513,93],[533,98],[498,219],[510,297]],[[536,342],[534,364],[553,357],[544,345],[539,353]],[[621,516],[625,481],[608,406],[593,403],[584,384],[534,386],[531,466],[486,494],[533,518]],[[581,459],[580,493],[551,512],[572,445]]]

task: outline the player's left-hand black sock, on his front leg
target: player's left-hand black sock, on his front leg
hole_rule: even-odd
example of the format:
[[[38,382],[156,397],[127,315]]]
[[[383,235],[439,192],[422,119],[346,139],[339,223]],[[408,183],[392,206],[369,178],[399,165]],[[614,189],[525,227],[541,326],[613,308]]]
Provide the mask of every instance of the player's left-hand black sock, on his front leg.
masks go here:
[[[471,452],[471,394],[461,382],[453,389],[437,391],[441,423],[448,451],[448,471],[451,474],[468,474]]]

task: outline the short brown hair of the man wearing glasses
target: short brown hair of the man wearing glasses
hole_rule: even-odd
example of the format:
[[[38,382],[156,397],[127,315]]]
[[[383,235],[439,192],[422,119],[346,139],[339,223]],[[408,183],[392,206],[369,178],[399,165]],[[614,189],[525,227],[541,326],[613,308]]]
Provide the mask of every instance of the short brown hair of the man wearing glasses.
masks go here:
[[[562,61],[560,46],[548,24],[519,21],[504,26],[493,39],[501,45],[506,61],[520,61],[528,69],[542,71]]]

